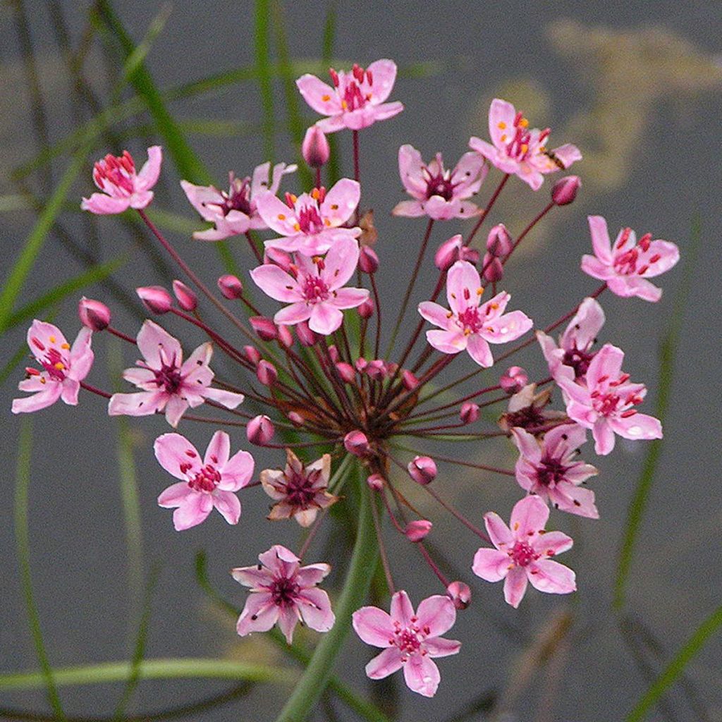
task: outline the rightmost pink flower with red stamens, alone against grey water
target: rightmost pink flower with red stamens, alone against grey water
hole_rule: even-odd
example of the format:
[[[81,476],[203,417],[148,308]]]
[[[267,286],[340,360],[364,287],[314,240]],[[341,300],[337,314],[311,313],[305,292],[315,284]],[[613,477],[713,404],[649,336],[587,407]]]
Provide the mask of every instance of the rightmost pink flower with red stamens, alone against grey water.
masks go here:
[[[651,233],[637,243],[631,228],[622,228],[611,245],[606,220],[601,216],[588,219],[594,256],[583,256],[582,270],[606,281],[609,290],[618,296],[658,301],[662,291],[647,279],[669,271],[679,261],[677,245],[668,240],[651,240]]]

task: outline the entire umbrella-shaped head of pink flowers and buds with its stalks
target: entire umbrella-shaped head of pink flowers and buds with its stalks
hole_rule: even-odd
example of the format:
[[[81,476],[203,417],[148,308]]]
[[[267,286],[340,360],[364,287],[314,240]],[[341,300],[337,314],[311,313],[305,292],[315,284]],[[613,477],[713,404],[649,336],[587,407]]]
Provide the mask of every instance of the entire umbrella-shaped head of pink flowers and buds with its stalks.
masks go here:
[[[214,508],[235,525],[242,500],[248,516],[251,495],[265,500],[272,532],[283,534],[294,522],[308,528],[299,547],[273,544],[258,554],[257,565],[232,570],[249,589],[238,634],[278,625],[291,643],[303,624],[329,635],[318,647],[321,661],[316,659],[328,666],[346,631],[339,625],[349,625],[347,600],[357,599],[360,608],[351,623],[359,638],[357,656],[365,661],[352,664],[359,670],[365,664],[371,679],[403,669],[409,689],[430,697],[440,684],[434,660],[461,648],[444,635],[456,613],[473,600],[466,580],[449,579],[440,568],[436,547],[427,541],[444,525],[435,524],[432,508],[419,513],[419,505],[409,501],[410,487],[479,540],[473,559],[461,565],[469,580],[504,580],[505,600],[514,607],[529,583],[547,593],[575,591],[575,572],[556,561],[573,541],[546,526],[550,516],[555,526],[567,524],[568,514],[590,520],[604,514],[586,487],[597,469],[579,457],[588,432],[597,454],[613,450],[615,435],[661,436],[658,420],[638,412],[646,388],[622,371],[622,350],[596,343],[604,323],[599,299],[609,288],[617,295],[656,300],[658,290],[647,279],[673,266],[678,252],[674,244],[650,236],[637,243],[629,230],[611,244],[606,222],[593,216],[595,256],[585,256],[582,265],[601,286],[570,303],[556,321],[540,318],[533,308],[507,310],[506,280],[515,269],[516,248],[531,242],[536,222],[574,201],[580,180],[557,181],[540,211],[527,186],[537,190],[544,175],[569,168],[581,157],[578,149],[570,144],[547,149],[549,129],[529,129],[513,105],[494,100],[490,137],[472,138],[471,152],[453,170],[444,168],[440,152],[424,163],[414,147],[399,142],[401,181],[411,200],[393,209],[406,217],[403,221],[388,219],[392,209],[383,209],[383,199],[374,202],[373,188],[360,184],[359,134],[375,132],[370,126],[403,110],[398,101],[387,102],[396,65],[379,60],[365,69],[355,65],[329,74],[331,84],[310,75],[297,81],[310,107],[325,116],[307,132],[301,148],[315,175],[313,187],[280,196],[279,183],[292,166],[278,163],[271,169],[268,162],[252,178],[231,175],[228,191],[182,183],[193,208],[213,224],[195,238],[234,243],[233,236],[244,235],[242,246],[251,245],[243,256],[244,249],[238,249],[239,276],[223,272],[215,285],[207,282],[183,260],[191,240],[166,238],[145,214],[160,173],[160,147],[149,149],[139,173],[128,152],[97,162],[93,178],[103,193],[84,199],[83,208],[97,214],[136,209],[180,278],[162,285],[158,279],[139,279],[139,297],[154,320],[144,321],[137,333],[116,328],[110,308],[86,298],[79,305],[84,328],[72,346],[56,326],[34,321],[27,342],[38,367],[29,367],[19,383],[31,395],[16,399],[12,410],[38,411],[57,399],[74,405],[82,390],[83,403],[95,396],[101,400],[98,408],[107,403],[110,414],[161,415],[173,428],[182,425],[183,434],[164,433],[155,440],[157,461],[177,479],[162,490],[164,474],[158,469],[157,503],[174,509],[175,529],[198,525]],[[339,142],[350,147],[353,171],[332,180],[326,165],[331,146],[324,134],[344,129],[349,133]],[[389,172],[395,162],[388,159]],[[518,194],[516,205],[528,205],[534,218],[517,238],[503,219],[482,230],[502,191]],[[424,217],[422,225],[414,227],[414,217]],[[473,219],[471,229],[461,226],[466,217]],[[458,226],[453,235],[450,224]],[[399,240],[392,240],[394,232]],[[409,263],[388,264],[388,246],[401,242]],[[421,282],[425,267],[435,276],[429,287]],[[380,279],[403,288],[401,303],[398,295],[390,300],[383,294]],[[439,301],[444,291],[445,305]],[[419,297],[421,303],[412,303]],[[557,342],[557,329],[569,319]],[[98,333],[123,339],[129,359],[142,357],[123,372],[138,391],[110,393],[89,382],[90,342]],[[200,344],[191,340],[199,334]],[[183,347],[195,349],[186,360]],[[222,364],[214,361],[219,375],[210,367],[214,355],[222,356]],[[561,393],[552,393],[554,387]],[[490,421],[495,417],[498,425]],[[212,435],[201,459],[191,440],[193,427],[209,426]],[[232,453],[244,436],[252,451]],[[204,433],[201,440],[207,438]],[[479,458],[483,443],[499,438],[516,448],[513,468],[498,461],[503,458],[498,446],[487,461]],[[451,440],[468,442],[469,452],[456,445],[458,451],[448,456],[444,444]],[[480,505],[469,513],[455,507],[445,492],[455,487],[455,466],[467,477],[483,473],[518,495],[509,526]],[[254,468],[262,469],[258,479]],[[329,513],[332,505],[338,515]],[[218,523],[215,517],[204,526]],[[311,549],[323,539],[319,529],[339,518],[344,529],[334,530],[332,538],[342,573],[323,561],[305,563],[307,555],[316,557]],[[485,530],[479,528],[482,518]],[[394,537],[391,545],[387,531]],[[357,535],[351,552],[336,541],[349,534]],[[406,574],[408,558],[399,561],[392,553],[399,544],[410,544],[408,553],[427,575],[425,586],[437,586],[438,593],[420,599],[415,609],[394,580],[399,563],[404,577],[412,578]],[[245,538],[238,554],[255,556],[259,550],[251,547],[253,541]],[[230,537],[227,549],[238,548]],[[390,613],[362,604],[379,559]],[[319,585],[326,578],[337,584],[342,577],[339,599],[346,601],[336,621],[331,598]],[[584,570],[579,577],[583,589]],[[474,593],[486,594],[487,588],[477,586]],[[361,652],[360,643],[381,651]],[[294,705],[305,704],[292,699]],[[308,712],[295,707],[292,716],[305,718]]]

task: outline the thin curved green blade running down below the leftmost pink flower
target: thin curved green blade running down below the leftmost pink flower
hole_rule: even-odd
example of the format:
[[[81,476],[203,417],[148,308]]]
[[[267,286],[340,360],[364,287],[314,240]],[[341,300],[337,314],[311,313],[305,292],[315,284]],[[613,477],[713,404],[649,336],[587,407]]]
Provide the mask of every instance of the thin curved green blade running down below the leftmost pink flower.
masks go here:
[[[17,473],[15,477],[15,544],[17,545],[17,559],[20,567],[20,583],[25,606],[27,609],[27,621],[30,626],[30,634],[35,644],[35,654],[38,656],[40,674],[38,687],[45,686],[48,695],[48,702],[53,708],[56,719],[63,721],[65,713],[61,704],[56,681],[53,679],[53,668],[45,651],[43,642],[43,630],[40,628],[40,616],[35,606],[35,598],[32,594],[32,577],[30,575],[30,534],[27,528],[27,508],[30,492],[30,458],[32,457],[32,419],[25,417],[20,425],[20,438],[17,452]]]

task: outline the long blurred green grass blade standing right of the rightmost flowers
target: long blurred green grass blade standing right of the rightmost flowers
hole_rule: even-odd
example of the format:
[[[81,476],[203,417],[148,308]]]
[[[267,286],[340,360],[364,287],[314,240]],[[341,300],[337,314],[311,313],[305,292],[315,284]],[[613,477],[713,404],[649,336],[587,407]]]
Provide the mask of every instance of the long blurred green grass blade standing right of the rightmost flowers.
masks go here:
[[[666,419],[667,409],[669,407],[669,399],[671,396],[672,378],[674,375],[674,359],[677,355],[677,346],[679,345],[679,334],[682,331],[682,323],[684,322],[684,313],[682,309],[687,308],[687,297],[690,295],[692,288],[692,275],[697,260],[697,253],[700,248],[700,239],[702,229],[700,220],[695,219],[692,222],[692,232],[690,233],[690,245],[685,255],[684,269],[682,271],[682,280],[679,282],[677,295],[674,298],[672,308],[677,309],[677,313],[673,313],[666,334],[662,338],[659,347],[659,391],[657,394],[657,403],[654,415],[662,422]],[[619,549],[619,562],[617,562],[617,578],[614,582],[614,599],[612,606],[614,609],[622,609],[625,604],[625,591],[627,578],[629,578],[630,568],[632,566],[632,557],[634,555],[635,542],[642,523],[642,517],[647,506],[649,492],[651,491],[654,481],[654,474],[657,470],[659,458],[661,456],[663,439],[656,439],[649,442],[648,450],[642,465],[642,471],[637,482],[637,489],[629,510],[627,511],[627,523],[625,525],[625,535],[622,539],[622,546]]]

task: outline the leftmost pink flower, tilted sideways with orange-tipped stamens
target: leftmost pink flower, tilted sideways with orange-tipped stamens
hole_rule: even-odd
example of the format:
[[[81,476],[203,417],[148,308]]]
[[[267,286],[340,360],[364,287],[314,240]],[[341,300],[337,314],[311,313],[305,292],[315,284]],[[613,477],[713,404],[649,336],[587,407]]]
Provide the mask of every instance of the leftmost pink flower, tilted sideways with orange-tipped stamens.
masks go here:
[[[80,382],[90,373],[93,362],[91,339],[92,331],[84,326],[71,347],[57,326],[37,318],[32,321],[27,331],[27,345],[43,370],[26,369],[27,378],[20,381],[17,388],[30,391],[32,396],[13,399],[13,414],[40,411],[58,399],[77,406]]]

